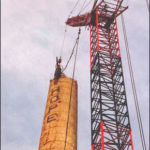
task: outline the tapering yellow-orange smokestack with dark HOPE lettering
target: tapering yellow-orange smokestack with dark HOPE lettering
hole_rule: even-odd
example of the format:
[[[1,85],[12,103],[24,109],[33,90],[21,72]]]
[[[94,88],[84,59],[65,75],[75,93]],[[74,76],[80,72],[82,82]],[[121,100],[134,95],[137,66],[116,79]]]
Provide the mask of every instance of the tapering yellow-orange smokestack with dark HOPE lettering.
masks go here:
[[[59,78],[50,80],[39,150],[64,147],[77,150],[77,82],[61,73]]]

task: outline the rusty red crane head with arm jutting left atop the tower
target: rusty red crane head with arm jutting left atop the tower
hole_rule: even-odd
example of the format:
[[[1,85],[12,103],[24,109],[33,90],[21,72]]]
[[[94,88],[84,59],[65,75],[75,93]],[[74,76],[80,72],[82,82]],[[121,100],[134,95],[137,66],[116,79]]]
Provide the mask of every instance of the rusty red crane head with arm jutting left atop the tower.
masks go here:
[[[124,12],[128,7],[121,6],[122,1],[114,1],[111,3],[108,0],[101,1],[98,5],[93,6],[93,9],[89,13],[78,15],[72,18],[68,18],[66,24],[72,27],[88,26],[90,24],[96,25],[95,22],[95,12],[96,8],[99,8],[99,18],[105,20],[104,28],[109,29],[111,23],[114,21],[115,17],[119,16]]]

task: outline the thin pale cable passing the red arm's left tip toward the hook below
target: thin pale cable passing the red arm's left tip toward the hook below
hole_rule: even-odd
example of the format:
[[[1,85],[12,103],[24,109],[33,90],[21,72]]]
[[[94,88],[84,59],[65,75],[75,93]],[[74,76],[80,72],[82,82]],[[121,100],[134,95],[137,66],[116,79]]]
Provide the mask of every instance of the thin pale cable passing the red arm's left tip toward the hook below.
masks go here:
[[[75,10],[75,8],[77,7],[78,3],[79,3],[80,0],[77,0],[77,2],[75,3],[73,9],[70,11],[69,15],[68,15],[68,18],[72,15],[73,11]],[[67,18],[67,19],[68,19]],[[64,37],[63,37],[63,41],[62,41],[62,46],[61,46],[61,50],[60,50],[60,56],[62,56],[62,52],[63,52],[63,49],[64,49],[64,43],[65,43],[65,38],[66,38],[66,33],[67,33],[67,25],[65,25],[65,30],[64,30]]]

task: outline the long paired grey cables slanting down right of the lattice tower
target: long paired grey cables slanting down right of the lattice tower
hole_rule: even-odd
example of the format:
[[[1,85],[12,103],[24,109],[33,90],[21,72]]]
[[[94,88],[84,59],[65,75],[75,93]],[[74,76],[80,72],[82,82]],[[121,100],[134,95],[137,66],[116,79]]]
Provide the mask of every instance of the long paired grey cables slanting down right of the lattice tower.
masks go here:
[[[141,120],[140,108],[139,108],[139,104],[138,104],[138,97],[137,97],[137,92],[136,92],[136,87],[135,87],[134,76],[133,76],[133,69],[132,69],[132,64],[131,64],[131,58],[130,58],[130,52],[129,52],[129,46],[128,46],[126,27],[125,27],[123,14],[121,14],[121,21],[122,21],[123,34],[124,34],[124,40],[125,40],[125,46],[126,46],[126,54],[127,54],[127,61],[128,61],[128,66],[129,66],[130,79],[131,79],[131,83],[132,83],[132,91],[133,91],[133,96],[134,96],[136,114],[137,114],[137,118],[138,118],[138,125],[139,125],[139,129],[140,129],[142,147],[143,147],[143,150],[146,150],[143,125],[142,125],[142,120]]]

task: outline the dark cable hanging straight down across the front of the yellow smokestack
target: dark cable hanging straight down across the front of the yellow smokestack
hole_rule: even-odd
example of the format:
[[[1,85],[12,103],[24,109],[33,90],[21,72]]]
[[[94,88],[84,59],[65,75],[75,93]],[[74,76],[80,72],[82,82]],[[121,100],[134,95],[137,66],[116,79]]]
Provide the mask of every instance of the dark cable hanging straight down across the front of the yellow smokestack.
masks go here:
[[[78,37],[77,37],[77,44],[76,44],[76,53],[75,53],[75,60],[72,72],[72,82],[71,82],[71,90],[70,90],[70,98],[69,98],[69,107],[68,107],[68,116],[67,116],[67,126],[66,126],[66,135],[65,135],[65,145],[64,150],[66,150],[66,143],[67,143],[67,135],[68,135],[68,125],[69,125],[69,117],[70,117],[70,108],[71,108],[71,98],[72,98],[72,87],[73,87],[73,80],[76,68],[76,60],[77,60],[77,53],[78,53],[78,44],[79,44],[79,36],[80,36],[81,29],[79,28]]]

